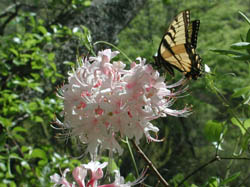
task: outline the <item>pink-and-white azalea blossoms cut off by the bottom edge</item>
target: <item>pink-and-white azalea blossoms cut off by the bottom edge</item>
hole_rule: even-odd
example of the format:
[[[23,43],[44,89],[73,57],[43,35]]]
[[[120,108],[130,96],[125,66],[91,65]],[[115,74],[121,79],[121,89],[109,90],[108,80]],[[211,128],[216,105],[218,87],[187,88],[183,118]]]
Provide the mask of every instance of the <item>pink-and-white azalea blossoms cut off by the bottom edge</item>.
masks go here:
[[[54,183],[54,186],[61,185],[62,187],[74,187],[76,183],[81,187],[130,187],[134,186],[143,181],[144,178],[140,177],[134,182],[124,182],[124,178],[120,176],[120,172],[118,170],[114,170],[115,172],[115,181],[111,184],[99,185],[98,180],[103,178],[102,169],[107,166],[107,162],[100,163],[98,161],[91,161],[88,164],[82,164],[81,166],[76,167],[73,172],[74,182],[69,182],[66,178],[67,173],[70,171],[69,168],[65,169],[62,176],[55,173],[50,177],[51,182]],[[88,171],[90,171],[90,179],[87,181],[85,185],[85,181],[88,175]]]

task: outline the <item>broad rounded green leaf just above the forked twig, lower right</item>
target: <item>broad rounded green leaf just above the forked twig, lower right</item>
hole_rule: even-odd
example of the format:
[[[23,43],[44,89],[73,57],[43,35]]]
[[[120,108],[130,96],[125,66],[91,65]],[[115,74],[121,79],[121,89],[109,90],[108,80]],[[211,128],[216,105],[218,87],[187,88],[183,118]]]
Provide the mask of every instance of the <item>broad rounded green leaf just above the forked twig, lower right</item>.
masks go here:
[[[219,141],[220,140],[220,135],[223,132],[223,123],[215,122],[212,120],[209,120],[206,125],[205,125],[205,136],[206,138],[211,141]]]

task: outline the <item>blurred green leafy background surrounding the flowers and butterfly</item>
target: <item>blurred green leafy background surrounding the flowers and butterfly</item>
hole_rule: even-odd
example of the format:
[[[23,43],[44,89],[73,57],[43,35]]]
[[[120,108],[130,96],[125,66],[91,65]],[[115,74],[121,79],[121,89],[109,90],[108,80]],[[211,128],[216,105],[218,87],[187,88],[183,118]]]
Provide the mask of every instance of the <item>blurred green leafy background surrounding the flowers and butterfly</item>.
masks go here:
[[[87,160],[76,159],[85,147],[51,124],[62,111],[57,88],[67,81],[77,56],[110,48],[93,46],[90,36],[92,43],[107,41],[130,59],[140,56],[153,63],[171,20],[186,9],[191,20],[201,22],[197,52],[213,75],[190,81],[188,96],[174,105],[192,105],[191,116],[154,121],[165,141],[143,140],[140,147],[170,186],[178,186],[215,155],[225,159],[199,170],[183,185],[250,186],[250,161],[231,159],[250,158],[250,48],[230,48],[250,41],[250,23],[239,13],[250,18],[249,0],[1,0],[0,186],[50,186],[49,176],[59,168]],[[123,55],[118,59],[126,63]],[[175,79],[167,76],[166,81],[180,77],[176,72]],[[122,157],[114,157],[116,165],[122,176],[135,176],[124,149]],[[145,162],[134,154],[141,171]],[[149,171],[145,184],[156,186],[157,181]]]

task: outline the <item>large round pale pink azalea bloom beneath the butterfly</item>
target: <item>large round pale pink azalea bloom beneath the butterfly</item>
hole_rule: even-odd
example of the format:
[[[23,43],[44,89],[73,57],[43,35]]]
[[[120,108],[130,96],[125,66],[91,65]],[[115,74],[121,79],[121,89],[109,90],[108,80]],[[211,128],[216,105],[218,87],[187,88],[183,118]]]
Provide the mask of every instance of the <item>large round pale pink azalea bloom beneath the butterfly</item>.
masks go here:
[[[123,62],[112,60],[118,53],[106,49],[97,57],[82,59],[61,88],[60,97],[64,100],[61,125],[87,144],[91,154],[104,149],[122,154],[118,138],[124,136],[135,138],[137,144],[143,135],[149,141],[159,141],[151,136],[159,131],[152,120],[190,113],[187,107],[170,109],[185,89],[171,90],[181,87],[184,79],[166,85],[165,78],[141,58],[125,69]]]

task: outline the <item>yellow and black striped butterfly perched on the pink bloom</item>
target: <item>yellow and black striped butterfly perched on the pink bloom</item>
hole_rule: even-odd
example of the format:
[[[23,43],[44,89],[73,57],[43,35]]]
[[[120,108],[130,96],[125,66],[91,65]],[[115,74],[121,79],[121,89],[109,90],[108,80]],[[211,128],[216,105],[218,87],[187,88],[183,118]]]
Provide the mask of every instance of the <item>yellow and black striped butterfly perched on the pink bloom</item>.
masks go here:
[[[190,22],[190,12],[179,13],[163,36],[156,64],[164,67],[171,75],[173,68],[183,72],[188,79],[201,76],[201,58],[195,52],[200,21]]]

